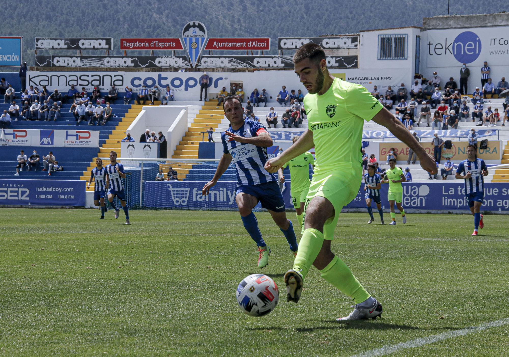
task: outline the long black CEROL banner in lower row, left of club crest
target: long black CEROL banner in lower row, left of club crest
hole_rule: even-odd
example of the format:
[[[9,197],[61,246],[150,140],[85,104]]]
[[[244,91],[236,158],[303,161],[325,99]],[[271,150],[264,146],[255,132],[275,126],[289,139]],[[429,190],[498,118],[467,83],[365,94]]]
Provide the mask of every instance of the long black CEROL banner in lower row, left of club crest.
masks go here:
[[[38,67],[189,68],[185,56],[54,56],[36,54]]]

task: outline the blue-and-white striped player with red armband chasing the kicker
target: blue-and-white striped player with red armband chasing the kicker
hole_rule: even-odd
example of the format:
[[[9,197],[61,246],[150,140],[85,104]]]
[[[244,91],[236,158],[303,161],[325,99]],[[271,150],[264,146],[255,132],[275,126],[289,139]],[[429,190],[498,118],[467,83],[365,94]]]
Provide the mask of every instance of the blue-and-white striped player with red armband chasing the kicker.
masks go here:
[[[286,217],[285,201],[276,178],[263,168],[268,157],[267,147],[272,146],[272,139],[265,126],[253,120],[243,119],[242,103],[237,97],[224,98],[223,109],[231,126],[221,133],[223,155],[214,177],[203,187],[202,195],[209,194],[210,188],[216,184],[233,160],[237,169],[235,202],[239,207],[244,228],[257,243],[258,267],[263,268],[269,264],[270,249],[262,238],[258,221],[252,212],[258,201],[269,211],[294,254],[298,248],[297,238],[292,222]]]

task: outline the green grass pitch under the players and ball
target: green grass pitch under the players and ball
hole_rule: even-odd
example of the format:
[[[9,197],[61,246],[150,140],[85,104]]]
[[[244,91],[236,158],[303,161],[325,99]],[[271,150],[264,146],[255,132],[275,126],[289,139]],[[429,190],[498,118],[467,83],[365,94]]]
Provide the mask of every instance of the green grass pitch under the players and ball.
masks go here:
[[[0,209],[0,355],[353,355],[509,317],[507,216],[485,216],[472,237],[470,215],[408,214],[406,225],[398,215],[392,227],[342,214],[332,250],[384,313],[336,323],[353,301],[315,268],[299,304],[286,302],[293,255],[266,212],[256,213],[272,250],[261,270],[238,212],[131,211],[131,226],[122,210],[99,215]],[[235,298],[256,272],[280,294],[261,318]],[[505,324],[392,355],[508,353]]]

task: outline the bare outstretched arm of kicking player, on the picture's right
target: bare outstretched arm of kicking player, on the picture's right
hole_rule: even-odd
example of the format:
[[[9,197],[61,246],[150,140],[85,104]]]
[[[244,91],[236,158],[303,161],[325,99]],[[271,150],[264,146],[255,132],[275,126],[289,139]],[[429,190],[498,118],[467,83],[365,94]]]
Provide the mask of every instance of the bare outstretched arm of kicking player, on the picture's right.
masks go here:
[[[437,165],[433,156],[428,154],[419,142],[414,138],[412,133],[405,128],[405,125],[383,107],[374,117],[373,121],[377,124],[385,126],[389,131],[394,134],[396,138],[408,145],[412,149],[420,161],[420,166],[431,174],[437,173]]]

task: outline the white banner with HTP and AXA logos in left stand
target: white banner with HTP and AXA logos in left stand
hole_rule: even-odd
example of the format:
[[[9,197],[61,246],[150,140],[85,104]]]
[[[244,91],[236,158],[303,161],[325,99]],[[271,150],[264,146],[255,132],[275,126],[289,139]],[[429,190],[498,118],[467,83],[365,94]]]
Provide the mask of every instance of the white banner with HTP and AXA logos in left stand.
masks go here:
[[[7,145],[97,148],[99,130],[4,129]]]

